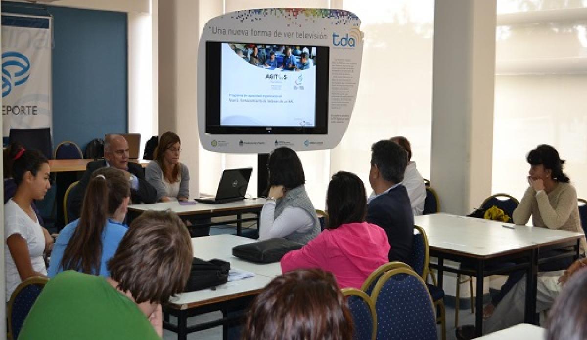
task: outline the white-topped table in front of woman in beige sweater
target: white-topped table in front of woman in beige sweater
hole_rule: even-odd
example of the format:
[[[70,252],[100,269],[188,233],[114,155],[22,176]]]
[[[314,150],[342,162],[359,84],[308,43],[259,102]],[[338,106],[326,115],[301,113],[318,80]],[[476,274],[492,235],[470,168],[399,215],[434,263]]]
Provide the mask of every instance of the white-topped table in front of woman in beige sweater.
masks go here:
[[[477,278],[477,336],[481,335],[483,329],[484,277],[512,270],[526,270],[529,280],[526,280],[525,322],[537,324],[535,306],[538,265],[565,257],[578,258],[579,241],[583,237],[582,233],[445,213],[414,216],[414,224],[426,232],[430,256],[438,258],[437,264],[430,264],[431,268],[438,270],[438,287],[442,287],[443,271]],[[573,251],[569,251],[569,248]],[[444,265],[444,260],[465,262],[471,266],[448,266]],[[504,262],[515,262],[515,265],[498,265]]]

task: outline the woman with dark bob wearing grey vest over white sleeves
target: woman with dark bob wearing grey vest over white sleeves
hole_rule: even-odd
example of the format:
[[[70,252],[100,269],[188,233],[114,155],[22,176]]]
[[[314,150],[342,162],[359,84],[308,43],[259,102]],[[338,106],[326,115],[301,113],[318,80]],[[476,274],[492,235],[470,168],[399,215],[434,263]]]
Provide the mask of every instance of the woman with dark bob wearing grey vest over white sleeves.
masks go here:
[[[269,154],[267,201],[259,218],[259,240],[287,238],[306,244],[320,233],[316,210],[306,193],[302,162],[289,147]]]

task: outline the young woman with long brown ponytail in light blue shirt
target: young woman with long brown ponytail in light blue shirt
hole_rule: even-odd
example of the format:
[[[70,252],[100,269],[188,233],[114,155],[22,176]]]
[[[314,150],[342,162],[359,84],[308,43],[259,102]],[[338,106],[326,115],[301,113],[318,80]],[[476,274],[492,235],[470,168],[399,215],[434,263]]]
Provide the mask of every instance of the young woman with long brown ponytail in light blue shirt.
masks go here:
[[[106,262],[126,233],[129,180],[122,170],[102,167],[92,174],[79,220],[63,228],[55,241],[49,277],[64,270],[108,277]]]

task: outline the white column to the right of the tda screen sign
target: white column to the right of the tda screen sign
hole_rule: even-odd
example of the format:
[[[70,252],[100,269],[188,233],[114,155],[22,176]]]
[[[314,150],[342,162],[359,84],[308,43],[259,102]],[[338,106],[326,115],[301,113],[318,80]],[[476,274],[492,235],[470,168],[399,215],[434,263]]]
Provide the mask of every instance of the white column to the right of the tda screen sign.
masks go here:
[[[467,214],[491,194],[495,0],[436,1],[431,183],[441,210]]]

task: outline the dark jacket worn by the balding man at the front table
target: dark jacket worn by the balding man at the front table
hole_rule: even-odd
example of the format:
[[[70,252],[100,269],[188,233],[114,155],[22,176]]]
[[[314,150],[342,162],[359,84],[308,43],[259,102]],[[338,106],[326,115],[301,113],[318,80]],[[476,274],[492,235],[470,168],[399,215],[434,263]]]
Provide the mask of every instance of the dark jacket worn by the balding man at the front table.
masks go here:
[[[155,188],[151,186],[151,184],[147,183],[143,167],[141,167],[139,164],[131,162],[127,164],[129,168],[127,171],[129,171],[129,173],[133,174],[134,176],[137,176],[137,179],[139,179],[139,190],[130,190],[131,203],[155,203],[157,198],[157,191],[155,191]],[[79,180],[77,186],[75,186],[69,193],[70,205],[68,207],[68,216],[70,217],[70,221],[73,221],[80,216],[82,211],[83,195],[86,193],[87,183],[89,183],[92,173],[96,169],[100,169],[101,167],[105,166],[106,160],[97,160],[87,163],[86,172],[83,173],[82,179]]]

